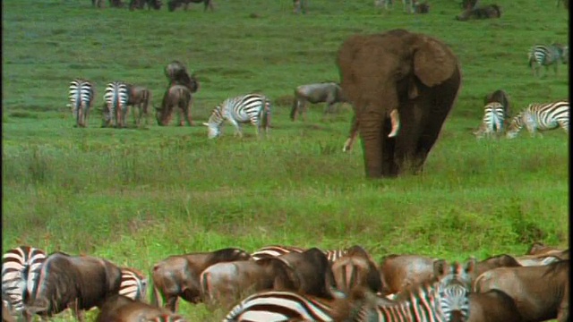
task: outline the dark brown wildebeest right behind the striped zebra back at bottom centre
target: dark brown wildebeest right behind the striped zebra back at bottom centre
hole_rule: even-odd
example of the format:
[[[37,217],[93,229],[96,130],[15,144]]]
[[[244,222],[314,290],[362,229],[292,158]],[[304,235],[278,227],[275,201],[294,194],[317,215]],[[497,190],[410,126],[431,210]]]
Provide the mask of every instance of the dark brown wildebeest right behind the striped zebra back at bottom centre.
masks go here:
[[[332,287],[334,287],[334,275],[329,259],[322,250],[312,248],[302,253],[290,252],[278,257],[293,267],[298,277],[300,287],[298,292],[332,299]],[[285,288],[275,285],[278,290]]]

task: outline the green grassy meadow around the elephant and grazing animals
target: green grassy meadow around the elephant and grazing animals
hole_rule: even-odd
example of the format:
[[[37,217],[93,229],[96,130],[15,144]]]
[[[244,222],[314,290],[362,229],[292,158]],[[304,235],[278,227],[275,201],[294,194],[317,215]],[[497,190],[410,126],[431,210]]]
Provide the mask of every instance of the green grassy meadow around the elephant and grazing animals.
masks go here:
[[[490,3],[490,2],[487,2]],[[107,2],[106,2],[107,4]],[[375,258],[415,253],[449,260],[522,254],[532,242],[568,247],[569,143],[561,130],[515,140],[475,140],[483,97],[509,93],[512,111],[568,97],[568,65],[536,78],[534,44],[568,42],[568,11],[555,2],[499,3],[500,19],[455,21],[455,0],[430,13],[390,12],[371,0],[215,0],[187,12],[95,9],[89,0],[3,2],[4,250],[30,244],[109,258],[149,272],[192,251],[269,244],[333,249],[361,244]],[[462,89],[421,175],[367,180],[360,144],[342,146],[352,108],[288,118],[297,85],[338,80],[335,57],[357,32],[396,28],[443,39],[463,69]],[[179,60],[201,81],[192,127],[73,128],[67,91],[75,77],[147,86],[158,106],[163,69]],[[207,139],[211,109],[260,91],[272,129],[241,140],[227,124]],[[129,122],[133,123],[131,115]],[[226,312],[182,303],[190,321]],[[90,314],[94,317],[95,314]]]

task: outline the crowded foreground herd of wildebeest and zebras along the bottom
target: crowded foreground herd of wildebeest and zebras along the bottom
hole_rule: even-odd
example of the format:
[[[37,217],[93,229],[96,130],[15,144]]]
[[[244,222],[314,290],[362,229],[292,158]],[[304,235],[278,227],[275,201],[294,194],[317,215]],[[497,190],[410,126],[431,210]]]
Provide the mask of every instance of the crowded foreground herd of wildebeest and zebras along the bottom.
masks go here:
[[[569,320],[569,249],[541,243],[463,265],[394,254],[378,265],[358,245],[227,248],[169,256],[151,281],[148,303],[147,277],[134,268],[20,246],[3,257],[3,320],[72,309],[83,321],[98,308],[98,322],[184,322],[178,298],[228,309],[226,322]]]

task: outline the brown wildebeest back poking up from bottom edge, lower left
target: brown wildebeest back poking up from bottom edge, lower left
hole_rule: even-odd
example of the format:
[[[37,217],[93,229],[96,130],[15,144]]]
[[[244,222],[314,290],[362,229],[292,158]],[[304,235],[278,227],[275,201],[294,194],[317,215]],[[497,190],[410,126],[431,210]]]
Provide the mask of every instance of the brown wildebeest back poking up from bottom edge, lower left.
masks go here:
[[[96,322],[175,320],[184,321],[182,317],[169,312],[167,309],[134,301],[123,295],[113,295],[107,298],[99,311],[98,318],[96,318]]]

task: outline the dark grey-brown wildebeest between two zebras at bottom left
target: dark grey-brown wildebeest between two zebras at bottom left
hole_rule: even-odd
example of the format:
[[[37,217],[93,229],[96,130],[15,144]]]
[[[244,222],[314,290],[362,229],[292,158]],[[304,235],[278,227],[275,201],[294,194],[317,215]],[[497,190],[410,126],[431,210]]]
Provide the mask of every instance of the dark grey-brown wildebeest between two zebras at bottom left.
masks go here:
[[[101,308],[107,296],[119,292],[121,275],[106,259],[53,253],[42,265],[28,311],[51,318],[69,308],[83,321],[84,309]]]

